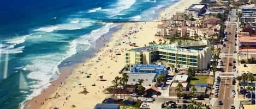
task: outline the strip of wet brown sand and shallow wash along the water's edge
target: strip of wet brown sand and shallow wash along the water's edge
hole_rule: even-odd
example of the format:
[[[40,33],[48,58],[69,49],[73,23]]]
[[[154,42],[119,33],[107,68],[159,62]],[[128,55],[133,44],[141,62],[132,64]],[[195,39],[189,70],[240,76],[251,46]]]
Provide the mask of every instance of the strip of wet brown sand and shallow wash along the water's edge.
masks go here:
[[[113,33],[117,32],[118,30],[120,30],[121,29],[120,27],[122,27],[122,24],[110,28],[108,33],[103,34],[104,38],[106,38],[105,42],[103,42],[100,39],[97,39],[96,41],[93,42],[94,48],[90,48],[91,49],[90,51],[93,51],[93,49],[100,49],[100,48],[104,47],[106,41],[110,41],[111,40],[111,35]],[[70,74],[72,74],[73,70],[76,67],[78,67],[81,63],[87,62],[88,60],[91,59],[91,57],[94,57],[96,55],[97,55],[97,52],[90,54],[90,56],[81,57],[81,58],[83,58],[81,62],[73,63],[72,65],[65,65],[66,62],[61,63],[60,64],[61,67],[59,67],[59,73],[57,75],[58,78],[49,82],[50,85],[47,88],[45,88],[40,94],[36,95],[35,97],[33,97],[30,100],[25,101],[23,108],[30,108],[30,107],[33,107],[33,109],[34,109],[34,107],[40,108],[39,103],[33,103],[32,101],[37,101],[37,102],[45,101],[42,98],[47,98],[52,93],[54,93],[56,91],[56,89],[59,87],[59,85],[64,83],[65,80],[67,79],[67,77]]]

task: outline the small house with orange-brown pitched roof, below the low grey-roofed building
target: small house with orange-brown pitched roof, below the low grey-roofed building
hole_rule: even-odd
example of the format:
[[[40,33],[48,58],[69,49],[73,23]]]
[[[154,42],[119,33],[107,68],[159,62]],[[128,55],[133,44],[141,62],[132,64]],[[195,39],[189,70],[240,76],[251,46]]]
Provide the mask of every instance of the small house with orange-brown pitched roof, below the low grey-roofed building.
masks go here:
[[[152,95],[160,95],[160,91],[157,87],[147,86],[144,91],[144,97],[152,97]]]

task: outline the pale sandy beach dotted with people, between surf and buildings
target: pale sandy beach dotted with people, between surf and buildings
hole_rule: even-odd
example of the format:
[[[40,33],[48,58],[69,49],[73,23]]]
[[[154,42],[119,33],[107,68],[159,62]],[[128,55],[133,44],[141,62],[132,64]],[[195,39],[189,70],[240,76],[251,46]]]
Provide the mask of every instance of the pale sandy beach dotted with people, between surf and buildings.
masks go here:
[[[176,12],[182,12],[193,3],[199,3],[201,0],[181,0],[172,4],[169,8],[163,9],[159,13],[157,20],[170,19]],[[118,72],[125,65],[126,49],[134,48],[129,46],[129,42],[136,43],[136,46],[144,47],[148,42],[155,40],[154,35],[157,31],[157,25],[161,22],[138,22],[125,23],[122,29],[112,34],[110,41],[105,42],[105,47],[98,49],[96,56],[80,63],[72,74],[67,73],[60,75],[61,79],[53,82],[49,88],[45,89],[42,94],[33,98],[26,104],[26,109],[48,109],[57,106],[61,109],[69,109],[72,107],[78,109],[91,109],[97,103],[104,100],[108,94],[103,90],[111,86],[111,81],[115,76],[121,76]],[[127,35],[129,31],[138,30],[132,35]],[[104,42],[104,36],[100,38]],[[116,55],[121,54],[121,55]],[[65,71],[63,71],[65,72]],[[67,71],[66,71],[67,72]],[[91,74],[91,75],[90,75]],[[90,75],[90,78],[86,78]],[[106,81],[100,81],[99,75],[103,75]],[[67,78],[66,78],[67,77]],[[66,80],[65,80],[66,79]],[[92,86],[95,84],[96,86]],[[81,94],[87,89],[87,94]]]

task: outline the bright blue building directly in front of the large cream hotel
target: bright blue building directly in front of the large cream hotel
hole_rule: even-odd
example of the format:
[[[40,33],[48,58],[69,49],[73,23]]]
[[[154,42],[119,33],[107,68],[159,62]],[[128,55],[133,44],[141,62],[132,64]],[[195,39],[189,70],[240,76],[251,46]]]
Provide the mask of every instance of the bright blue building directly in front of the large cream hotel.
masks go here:
[[[130,69],[131,73],[156,73],[166,75],[167,69],[165,65],[135,65]]]

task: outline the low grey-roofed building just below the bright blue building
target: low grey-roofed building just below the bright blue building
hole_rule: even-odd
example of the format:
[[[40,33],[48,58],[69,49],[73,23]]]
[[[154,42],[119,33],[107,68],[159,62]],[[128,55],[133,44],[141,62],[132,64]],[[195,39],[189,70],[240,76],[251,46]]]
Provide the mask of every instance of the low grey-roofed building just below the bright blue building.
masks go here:
[[[127,85],[138,85],[139,79],[143,79],[142,86],[154,86],[156,84],[156,73],[127,73],[129,76]]]

